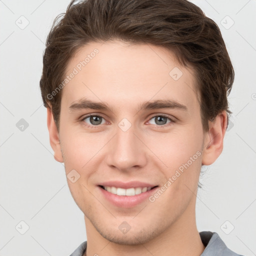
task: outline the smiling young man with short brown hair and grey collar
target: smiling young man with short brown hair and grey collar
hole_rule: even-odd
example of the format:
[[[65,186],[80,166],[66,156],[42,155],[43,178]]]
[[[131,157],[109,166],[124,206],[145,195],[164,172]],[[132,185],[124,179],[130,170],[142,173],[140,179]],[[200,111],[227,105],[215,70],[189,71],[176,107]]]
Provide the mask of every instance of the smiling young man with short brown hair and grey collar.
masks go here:
[[[40,88],[84,213],[71,255],[238,255],[195,222],[233,78],[219,28],[186,0],[72,1],[55,19]]]

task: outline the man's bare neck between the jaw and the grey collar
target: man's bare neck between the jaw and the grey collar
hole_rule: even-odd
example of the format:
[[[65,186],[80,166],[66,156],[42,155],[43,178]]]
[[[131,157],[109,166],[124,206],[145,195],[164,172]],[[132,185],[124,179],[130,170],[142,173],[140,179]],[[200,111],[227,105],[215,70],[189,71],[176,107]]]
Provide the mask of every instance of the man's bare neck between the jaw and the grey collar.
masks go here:
[[[205,248],[196,228],[195,202],[193,200],[178,219],[158,236],[143,244],[113,243],[102,237],[86,216],[84,219],[87,233],[87,249],[84,256],[97,254],[100,256],[120,254],[122,256],[199,256]]]

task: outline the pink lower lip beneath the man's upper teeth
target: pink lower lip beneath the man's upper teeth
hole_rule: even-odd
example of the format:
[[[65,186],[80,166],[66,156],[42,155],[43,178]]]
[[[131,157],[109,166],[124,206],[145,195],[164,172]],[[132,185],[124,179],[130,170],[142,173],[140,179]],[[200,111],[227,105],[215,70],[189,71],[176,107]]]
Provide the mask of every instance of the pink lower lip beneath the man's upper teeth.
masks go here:
[[[141,203],[142,201],[148,199],[148,197],[155,192],[158,186],[135,195],[117,195],[112,194],[105,190],[104,188],[98,186],[102,194],[105,196],[105,198],[110,201],[112,204],[114,204],[117,207],[123,207],[123,208],[129,208],[136,206],[137,204]]]

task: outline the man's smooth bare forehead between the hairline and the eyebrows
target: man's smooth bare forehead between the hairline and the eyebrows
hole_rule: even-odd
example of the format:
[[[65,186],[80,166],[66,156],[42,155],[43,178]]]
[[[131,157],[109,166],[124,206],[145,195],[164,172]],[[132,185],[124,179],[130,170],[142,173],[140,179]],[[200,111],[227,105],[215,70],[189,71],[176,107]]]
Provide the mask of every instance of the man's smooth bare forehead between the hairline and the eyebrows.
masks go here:
[[[65,75],[69,78],[61,104],[82,97],[110,102],[113,107],[152,99],[173,99],[188,108],[198,104],[193,70],[155,45],[91,42],[70,59]]]

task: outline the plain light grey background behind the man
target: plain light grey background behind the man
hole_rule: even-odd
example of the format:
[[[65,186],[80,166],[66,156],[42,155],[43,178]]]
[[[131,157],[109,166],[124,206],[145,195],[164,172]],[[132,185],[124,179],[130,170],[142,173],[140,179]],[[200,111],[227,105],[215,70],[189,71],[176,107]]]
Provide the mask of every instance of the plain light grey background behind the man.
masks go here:
[[[197,227],[217,232],[237,253],[255,255],[256,1],[192,2],[219,25],[235,69],[232,124],[222,154],[201,179]],[[68,3],[0,1],[0,255],[69,255],[86,240],[64,166],[52,155],[39,90],[46,36]],[[29,226],[24,234],[21,220]]]

